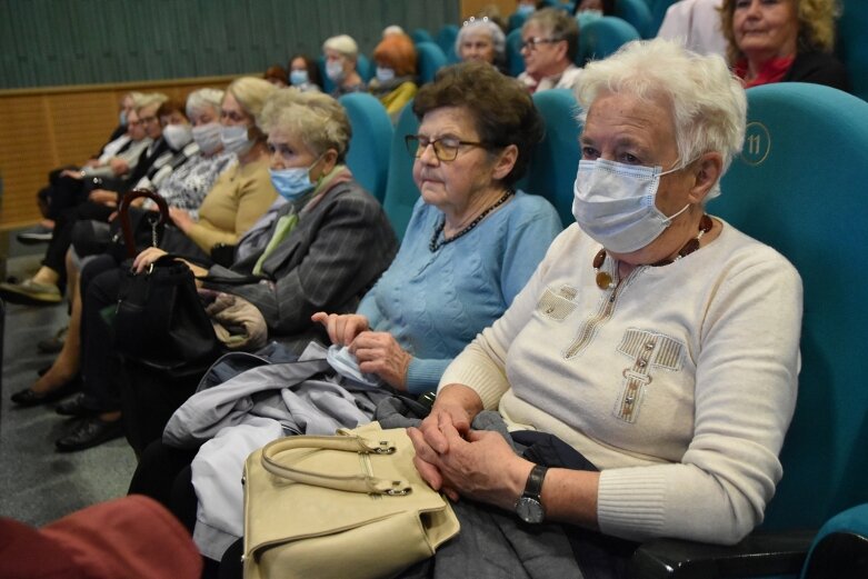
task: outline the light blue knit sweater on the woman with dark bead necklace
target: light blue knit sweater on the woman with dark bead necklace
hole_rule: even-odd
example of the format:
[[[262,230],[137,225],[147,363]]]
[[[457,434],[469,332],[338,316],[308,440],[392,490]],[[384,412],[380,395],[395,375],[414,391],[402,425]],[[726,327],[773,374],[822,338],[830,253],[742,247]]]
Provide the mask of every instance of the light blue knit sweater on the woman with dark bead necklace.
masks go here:
[[[506,311],[562,229],[548,201],[521,191],[431,252],[441,220],[440,210],[419,199],[398,256],[358,309],[413,356],[411,393],[437,388],[452,358]]]

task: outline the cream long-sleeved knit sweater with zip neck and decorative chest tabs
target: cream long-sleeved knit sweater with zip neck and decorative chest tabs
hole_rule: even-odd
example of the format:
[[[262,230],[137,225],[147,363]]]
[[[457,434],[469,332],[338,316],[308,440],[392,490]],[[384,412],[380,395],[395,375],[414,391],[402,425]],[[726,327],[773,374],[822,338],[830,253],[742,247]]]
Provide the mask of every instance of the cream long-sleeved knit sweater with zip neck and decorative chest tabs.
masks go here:
[[[732,543],[762,520],[796,403],[801,280],[724,224],[701,250],[601,290],[572,224],[440,381],[601,471],[600,529]],[[613,277],[607,258],[602,267]]]

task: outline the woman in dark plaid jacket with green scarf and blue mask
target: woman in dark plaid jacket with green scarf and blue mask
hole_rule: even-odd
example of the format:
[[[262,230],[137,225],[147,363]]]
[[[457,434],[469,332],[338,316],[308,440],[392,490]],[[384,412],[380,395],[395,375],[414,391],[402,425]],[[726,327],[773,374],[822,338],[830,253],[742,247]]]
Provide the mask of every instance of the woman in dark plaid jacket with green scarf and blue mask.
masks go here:
[[[229,94],[222,103],[225,118],[232,111]],[[335,99],[316,92],[276,91],[258,119],[261,129],[257,130],[269,134],[271,153],[263,156],[270,161],[267,174],[285,200],[268,242],[229,269],[188,266],[196,276],[256,277],[256,282],[209,282],[204,288],[251,303],[263,318],[269,338],[306,342],[313,335],[310,317],[320,305],[339,311],[355,308],[391,261],[397,241],[380,204],[343,164],[350,127]],[[227,143],[226,134],[222,140]],[[166,253],[160,248],[146,249],[133,268],[141,271]],[[82,273],[83,393],[63,408],[64,413],[86,418],[57,441],[61,451],[82,450],[121,435],[117,362],[107,357],[112,340],[99,318],[103,307],[117,301],[121,272],[112,269],[94,277],[89,269]],[[311,336],[302,339],[306,332]],[[153,420],[150,409],[137,410],[142,416],[136,423]]]

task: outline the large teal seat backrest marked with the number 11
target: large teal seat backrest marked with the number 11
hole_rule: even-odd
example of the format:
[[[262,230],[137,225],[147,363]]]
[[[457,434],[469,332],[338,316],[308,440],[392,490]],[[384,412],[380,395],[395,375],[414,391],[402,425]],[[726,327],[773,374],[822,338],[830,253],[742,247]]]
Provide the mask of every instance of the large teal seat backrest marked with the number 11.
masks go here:
[[[819,527],[868,502],[868,102],[797,82],[747,93],[745,148],[709,211],[801,274],[798,401],[764,527]]]

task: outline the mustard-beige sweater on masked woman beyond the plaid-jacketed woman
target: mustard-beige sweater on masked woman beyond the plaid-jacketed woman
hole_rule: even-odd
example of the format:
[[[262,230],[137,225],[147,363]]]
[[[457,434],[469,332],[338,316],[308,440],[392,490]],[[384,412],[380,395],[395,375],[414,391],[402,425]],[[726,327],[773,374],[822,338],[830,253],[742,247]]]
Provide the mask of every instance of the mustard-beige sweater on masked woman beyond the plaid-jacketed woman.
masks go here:
[[[217,243],[233,246],[277,198],[268,157],[226,169],[199,208],[199,221],[187,236],[206,253]]]

